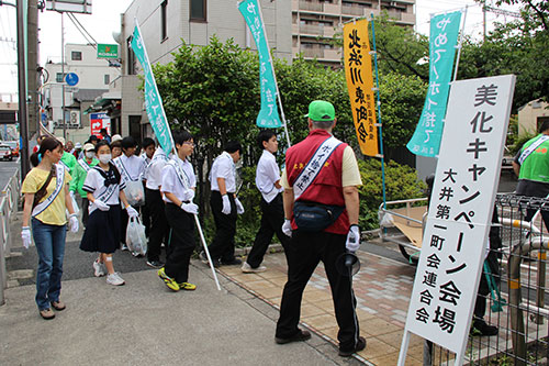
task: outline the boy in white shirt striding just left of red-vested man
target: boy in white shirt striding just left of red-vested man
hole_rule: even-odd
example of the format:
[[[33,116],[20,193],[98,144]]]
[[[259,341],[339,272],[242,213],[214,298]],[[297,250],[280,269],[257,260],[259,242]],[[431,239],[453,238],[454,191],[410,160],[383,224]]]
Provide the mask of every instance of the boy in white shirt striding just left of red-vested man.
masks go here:
[[[242,266],[245,274],[265,271],[261,266],[265,253],[276,233],[284,254],[288,258],[290,252],[290,236],[282,232],[284,223],[284,207],[282,204],[282,191],[280,185],[280,169],[277,165],[274,153],[278,151],[278,141],[274,131],[262,130],[257,136],[257,143],[264,149],[256,169],[256,186],[261,192],[261,226],[256,234],[254,246]]]

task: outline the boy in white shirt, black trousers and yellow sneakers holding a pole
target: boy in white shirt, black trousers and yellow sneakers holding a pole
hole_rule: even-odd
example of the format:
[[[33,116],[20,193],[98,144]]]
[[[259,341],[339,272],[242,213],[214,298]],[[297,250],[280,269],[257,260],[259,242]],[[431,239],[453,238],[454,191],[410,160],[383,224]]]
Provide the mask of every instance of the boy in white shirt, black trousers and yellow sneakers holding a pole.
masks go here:
[[[166,218],[170,225],[170,243],[166,266],[158,270],[166,286],[173,290],[194,290],[189,280],[189,262],[194,251],[194,215],[199,207],[192,202],[197,177],[188,160],[194,151],[192,135],[182,131],[173,136],[177,155],[163,169],[161,190]]]

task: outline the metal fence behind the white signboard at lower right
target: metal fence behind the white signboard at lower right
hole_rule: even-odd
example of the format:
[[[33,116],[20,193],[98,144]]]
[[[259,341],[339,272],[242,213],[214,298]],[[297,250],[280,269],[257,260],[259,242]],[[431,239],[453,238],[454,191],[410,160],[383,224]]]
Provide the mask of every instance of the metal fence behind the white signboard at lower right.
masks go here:
[[[491,248],[496,268],[484,266],[482,276],[490,291],[479,295],[477,302],[485,301],[483,320],[497,328],[497,335],[473,335],[479,332],[472,329],[466,361],[469,365],[547,365],[549,233],[544,215],[549,223],[549,200],[498,195],[495,207],[502,245]],[[424,350],[424,365],[453,364],[455,355],[436,344],[426,342]]]

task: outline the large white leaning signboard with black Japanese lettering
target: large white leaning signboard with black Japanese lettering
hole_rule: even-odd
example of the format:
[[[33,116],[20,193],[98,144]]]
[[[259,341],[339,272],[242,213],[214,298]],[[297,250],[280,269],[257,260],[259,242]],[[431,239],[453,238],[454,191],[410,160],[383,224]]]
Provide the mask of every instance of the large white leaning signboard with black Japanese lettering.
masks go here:
[[[408,332],[463,362],[514,88],[514,75],[451,84],[399,365]]]

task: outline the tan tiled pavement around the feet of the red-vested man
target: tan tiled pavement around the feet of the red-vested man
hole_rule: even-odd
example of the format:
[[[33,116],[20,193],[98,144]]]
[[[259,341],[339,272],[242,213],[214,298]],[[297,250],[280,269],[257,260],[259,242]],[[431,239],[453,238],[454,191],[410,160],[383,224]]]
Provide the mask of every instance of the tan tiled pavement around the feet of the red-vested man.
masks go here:
[[[360,271],[354,277],[357,315],[367,347],[358,358],[374,365],[396,365],[412,291],[415,267],[360,252]],[[221,271],[277,309],[285,284],[287,265],[282,253],[267,255],[261,274],[243,274],[239,267],[221,267]],[[313,331],[337,344],[334,304],[322,263],[305,288],[301,321]],[[411,339],[406,365],[422,365],[423,340]]]

